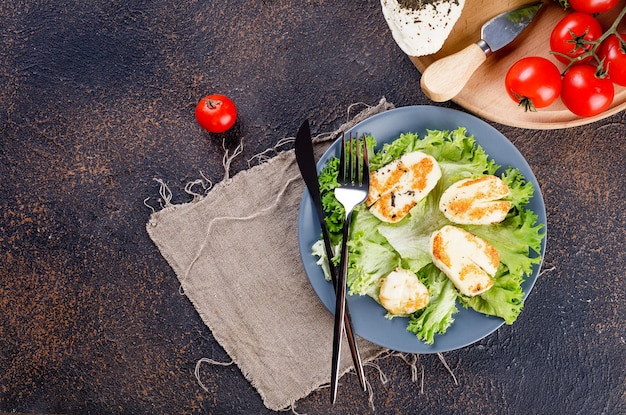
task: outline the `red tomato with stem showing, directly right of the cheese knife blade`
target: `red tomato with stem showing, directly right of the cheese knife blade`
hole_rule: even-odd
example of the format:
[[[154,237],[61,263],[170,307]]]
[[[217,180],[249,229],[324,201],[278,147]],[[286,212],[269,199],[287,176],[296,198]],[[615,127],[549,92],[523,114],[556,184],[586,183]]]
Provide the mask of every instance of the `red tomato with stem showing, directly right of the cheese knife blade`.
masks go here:
[[[552,29],[550,49],[570,58],[577,58],[593,46],[586,42],[593,42],[600,36],[602,36],[602,26],[593,16],[578,12],[569,13]],[[559,54],[554,56],[563,63],[570,62],[565,56]],[[588,56],[581,62],[587,62],[590,59],[591,56]]]

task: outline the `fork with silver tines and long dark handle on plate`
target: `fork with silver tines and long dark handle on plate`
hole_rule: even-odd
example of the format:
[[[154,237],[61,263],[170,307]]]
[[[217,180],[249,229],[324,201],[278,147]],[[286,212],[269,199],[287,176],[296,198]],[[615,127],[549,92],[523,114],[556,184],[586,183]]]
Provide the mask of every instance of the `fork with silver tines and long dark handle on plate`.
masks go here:
[[[358,134],[347,143],[346,136],[341,136],[341,155],[339,158],[339,174],[337,177],[338,187],[335,188],[335,198],[345,209],[343,222],[343,238],[341,242],[341,259],[337,272],[337,285],[335,287],[335,326],[333,331],[333,360],[330,377],[331,402],[337,399],[337,382],[339,380],[339,359],[341,356],[341,342],[346,308],[346,274],[348,272],[348,237],[350,235],[350,223],[352,212],[363,203],[369,192],[369,159],[365,136],[362,138],[363,148],[360,150]]]

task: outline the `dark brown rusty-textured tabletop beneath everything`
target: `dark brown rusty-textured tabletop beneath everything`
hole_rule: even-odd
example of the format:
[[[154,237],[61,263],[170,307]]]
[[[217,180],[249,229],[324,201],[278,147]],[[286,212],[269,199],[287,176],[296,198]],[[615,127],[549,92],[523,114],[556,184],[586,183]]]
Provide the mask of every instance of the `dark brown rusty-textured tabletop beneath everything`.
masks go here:
[[[145,224],[223,177],[197,100],[229,95],[246,160],[346,121],[353,103],[432,104],[377,0],[0,2],[0,412],[264,414]],[[454,103],[438,104],[457,108]],[[545,272],[513,326],[370,373],[376,413],[626,413],[626,116],[565,130],[492,123],[545,198]],[[232,149],[231,149],[232,150]],[[422,382],[423,375],[423,382]],[[346,382],[308,414],[370,413]]]

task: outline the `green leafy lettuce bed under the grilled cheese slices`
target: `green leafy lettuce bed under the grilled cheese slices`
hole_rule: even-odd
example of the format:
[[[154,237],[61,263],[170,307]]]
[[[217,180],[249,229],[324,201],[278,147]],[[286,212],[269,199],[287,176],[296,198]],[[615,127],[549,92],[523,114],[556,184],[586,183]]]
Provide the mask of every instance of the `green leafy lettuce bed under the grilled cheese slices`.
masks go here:
[[[368,136],[366,140],[368,148],[375,148],[375,137]],[[541,261],[543,225],[538,224],[537,215],[526,208],[534,192],[532,183],[526,181],[518,169],[504,169],[499,177],[510,189],[506,200],[512,205],[506,219],[492,225],[454,224],[489,242],[500,254],[493,286],[482,294],[467,297],[456,289],[431,258],[431,235],[452,224],[439,210],[439,199],[458,180],[495,175],[501,166],[489,159],[474,137],[461,127],[454,131],[427,131],[423,138],[413,133],[402,134],[380,151],[372,153],[370,150],[370,170],[375,171],[413,151],[434,157],[441,168],[441,178],[435,188],[397,223],[380,221],[365,204],[357,207],[348,241],[349,294],[369,295],[380,302],[381,281],[401,267],[412,271],[428,288],[429,302],[425,308],[410,315],[399,317],[388,312],[387,317],[406,318],[407,330],[424,343],[433,344],[436,335],[446,332],[454,322],[458,305],[500,317],[506,324],[512,324],[524,306],[521,284],[531,274],[533,265]],[[339,160],[332,158],[319,176],[326,225],[337,253],[344,218],[343,207],[333,192],[338,186],[338,167]],[[323,241],[317,241],[312,250],[326,279],[330,280]],[[338,263],[339,256],[336,255],[333,261]]]

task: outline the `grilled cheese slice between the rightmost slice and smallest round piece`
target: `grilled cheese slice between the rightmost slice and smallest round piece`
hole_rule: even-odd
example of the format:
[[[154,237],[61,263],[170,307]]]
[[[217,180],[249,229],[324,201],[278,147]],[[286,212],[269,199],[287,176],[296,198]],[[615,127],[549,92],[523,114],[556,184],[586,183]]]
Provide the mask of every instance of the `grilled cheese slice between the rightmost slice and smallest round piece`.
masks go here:
[[[430,253],[433,264],[470,297],[491,288],[500,263],[500,254],[489,242],[451,225],[433,232]]]

